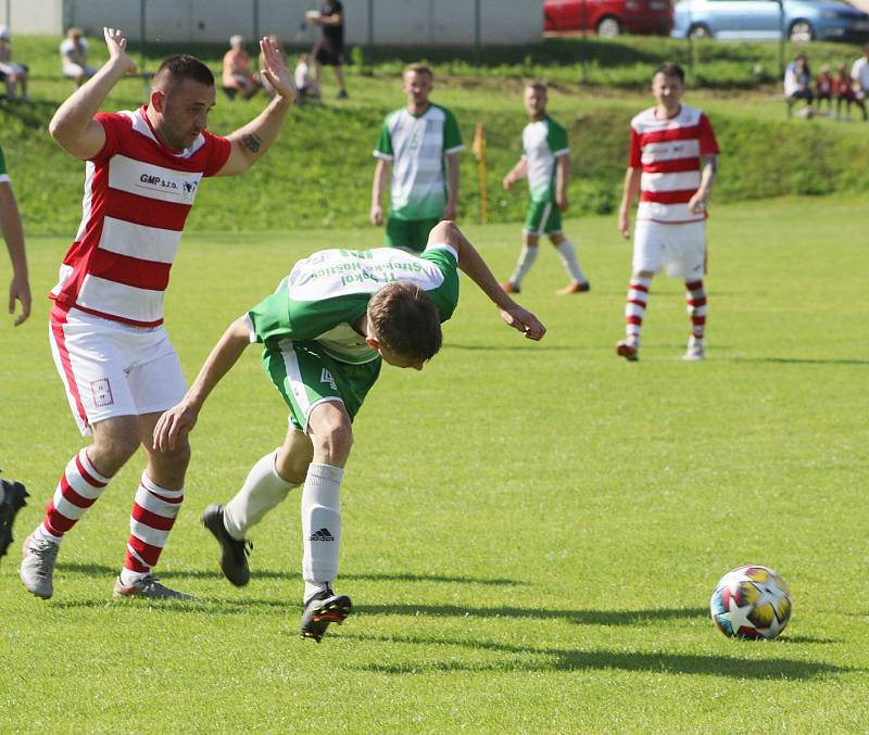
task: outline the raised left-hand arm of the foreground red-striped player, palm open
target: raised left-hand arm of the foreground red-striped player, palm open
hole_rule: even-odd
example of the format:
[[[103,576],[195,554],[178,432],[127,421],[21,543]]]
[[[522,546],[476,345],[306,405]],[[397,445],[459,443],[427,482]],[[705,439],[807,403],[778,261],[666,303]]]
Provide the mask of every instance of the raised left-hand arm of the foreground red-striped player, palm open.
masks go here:
[[[109,47],[109,61],[58,107],[48,126],[58,144],[83,161],[97,155],[105,142],[105,131],[93,115],[117,80],[136,71],[136,62],[127,54],[127,39],[121,29],[102,30]]]

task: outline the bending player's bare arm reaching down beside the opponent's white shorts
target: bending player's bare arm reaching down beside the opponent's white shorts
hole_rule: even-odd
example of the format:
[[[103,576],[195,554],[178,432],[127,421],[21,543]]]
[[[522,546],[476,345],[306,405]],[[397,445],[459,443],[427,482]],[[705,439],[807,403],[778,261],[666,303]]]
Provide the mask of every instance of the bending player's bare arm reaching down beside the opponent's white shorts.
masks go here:
[[[155,448],[174,449],[178,440],[193,430],[205,398],[229,372],[249,344],[250,331],[244,317],[240,317],[229,325],[224,335],[214,345],[181,402],[158,419],[154,427]]]

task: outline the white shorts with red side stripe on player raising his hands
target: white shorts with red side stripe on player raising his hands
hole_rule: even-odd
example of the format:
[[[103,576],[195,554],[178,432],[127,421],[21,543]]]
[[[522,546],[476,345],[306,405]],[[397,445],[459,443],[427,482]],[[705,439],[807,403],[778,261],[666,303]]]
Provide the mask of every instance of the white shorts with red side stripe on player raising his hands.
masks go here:
[[[91,426],[114,416],[172,408],[187,391],[178,355],[163,327],[130,327],[54,307],[49,342],[70,408],[85,435]]]

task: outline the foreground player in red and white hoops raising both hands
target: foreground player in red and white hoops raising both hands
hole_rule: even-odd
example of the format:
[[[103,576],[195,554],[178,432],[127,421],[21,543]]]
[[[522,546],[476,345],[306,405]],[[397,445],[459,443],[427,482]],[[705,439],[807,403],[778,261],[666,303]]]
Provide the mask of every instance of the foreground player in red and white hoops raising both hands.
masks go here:
[[[190,460],[187,444],[164,451],[151,440],[160,415],[186,392],[163,327],[163,293],[201,179],[241,174],[259,161],[280,132],[294,89],[280,52],[263,39],[264,73],[277,94],[226,138],[205,129],[214,77],[186,54],[163,62],[148,104],[98,113],[135,69],[121,30],[105,28],[104,36],[109,62],[50,125],[61,148],[87,161],[84,216],[51,292],[49,339],[79,429],[93,442],[68,461],[42,523],[24,542],[21,579],[33,594],[51,597],[63,535],[141,444],[148,465],[115,595],[190,598],[151,573],[180,509]]]

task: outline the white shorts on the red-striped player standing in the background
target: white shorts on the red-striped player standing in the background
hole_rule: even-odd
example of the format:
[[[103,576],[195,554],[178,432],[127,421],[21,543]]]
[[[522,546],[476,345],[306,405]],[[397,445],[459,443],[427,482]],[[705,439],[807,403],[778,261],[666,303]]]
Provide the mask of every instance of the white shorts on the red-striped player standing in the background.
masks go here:
[[[648,270],[694,281],[706,270],[706,223],[664,225],[640,219],[633,230],[633,273]]]

